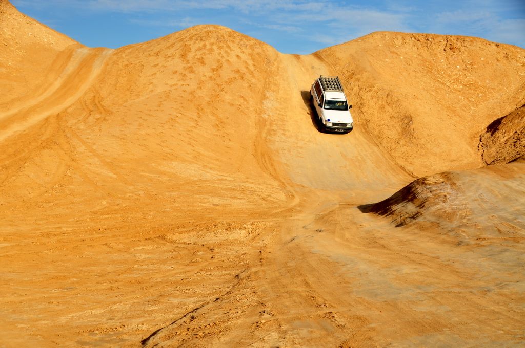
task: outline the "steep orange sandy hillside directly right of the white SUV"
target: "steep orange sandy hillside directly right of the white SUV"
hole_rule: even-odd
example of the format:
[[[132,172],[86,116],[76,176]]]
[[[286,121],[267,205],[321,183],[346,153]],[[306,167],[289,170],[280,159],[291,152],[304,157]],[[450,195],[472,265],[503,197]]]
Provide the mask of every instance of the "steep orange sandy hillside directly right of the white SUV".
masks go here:
[[[479,135],[525,100],[523,49],[479,38],[375,32],[319,56],[362,127],[417,176],[480,166]]]

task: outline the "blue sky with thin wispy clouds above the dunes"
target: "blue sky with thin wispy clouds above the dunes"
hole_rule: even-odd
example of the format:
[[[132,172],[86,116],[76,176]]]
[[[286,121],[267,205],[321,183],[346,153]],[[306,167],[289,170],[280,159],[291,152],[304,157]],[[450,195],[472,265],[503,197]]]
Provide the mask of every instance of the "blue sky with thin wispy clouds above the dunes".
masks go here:
[[[467,35],[525,48],[524,0],[12,0],[90,47],[117,48],[220,24],[283,53],[311,53],[373,31]]]

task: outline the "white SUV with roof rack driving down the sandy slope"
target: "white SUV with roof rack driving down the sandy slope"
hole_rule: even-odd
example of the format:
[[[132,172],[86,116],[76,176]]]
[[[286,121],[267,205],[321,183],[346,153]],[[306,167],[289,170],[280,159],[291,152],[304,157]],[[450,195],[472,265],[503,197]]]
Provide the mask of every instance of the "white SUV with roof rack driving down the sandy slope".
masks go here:
[[[354,128],[343,86],[337,76],[323,76],[313,82],[310,102],[316,109],[321,131],[349,133]]]

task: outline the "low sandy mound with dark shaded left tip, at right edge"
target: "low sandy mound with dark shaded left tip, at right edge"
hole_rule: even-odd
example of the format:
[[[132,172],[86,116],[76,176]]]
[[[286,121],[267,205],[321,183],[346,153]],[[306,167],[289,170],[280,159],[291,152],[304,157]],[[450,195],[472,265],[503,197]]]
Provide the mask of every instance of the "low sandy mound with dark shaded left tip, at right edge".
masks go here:
[[[477,237],[522,237],[523,165],[519,159],[507,165],[419,178],[390,198],[361,206],[361,210],[385,215],[396,226],[438,225],[461,242]],[[511,206],[508,200],[513,201]]]

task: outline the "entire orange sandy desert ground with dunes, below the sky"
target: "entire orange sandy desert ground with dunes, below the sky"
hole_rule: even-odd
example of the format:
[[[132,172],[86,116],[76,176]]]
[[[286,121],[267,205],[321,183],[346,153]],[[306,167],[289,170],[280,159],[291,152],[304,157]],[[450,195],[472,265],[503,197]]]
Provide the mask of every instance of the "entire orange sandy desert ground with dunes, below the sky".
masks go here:
[[[348,135],[317,129],[320,74]],[[521,48],[88,48],[0,0],[0,89],[0,347],[525,341]]]

